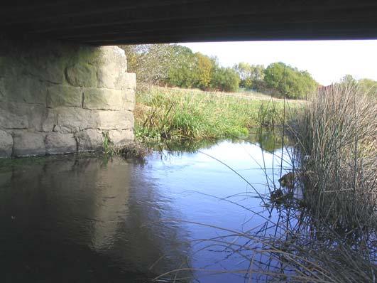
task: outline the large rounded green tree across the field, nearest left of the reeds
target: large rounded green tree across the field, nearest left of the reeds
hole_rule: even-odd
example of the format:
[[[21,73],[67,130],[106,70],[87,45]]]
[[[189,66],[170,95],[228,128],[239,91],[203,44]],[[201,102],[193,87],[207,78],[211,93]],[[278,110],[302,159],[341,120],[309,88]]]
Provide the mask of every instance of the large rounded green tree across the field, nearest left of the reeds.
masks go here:
[[[318,86],[307,71],[297,70],[281,62],[268,65],[264,73],[267,87],[290,99],[304,98]]]

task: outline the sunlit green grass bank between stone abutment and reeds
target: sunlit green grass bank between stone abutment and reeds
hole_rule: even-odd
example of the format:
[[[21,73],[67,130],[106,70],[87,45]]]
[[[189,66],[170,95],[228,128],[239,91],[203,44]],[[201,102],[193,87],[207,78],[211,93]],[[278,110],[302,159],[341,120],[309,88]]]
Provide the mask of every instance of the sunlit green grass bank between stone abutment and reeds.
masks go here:
[[[284,108],[283,100],[267,96],[168,87],[151,87],[136,101],[136,137],[142,141],[241,137],[252,127],[281,124]]]

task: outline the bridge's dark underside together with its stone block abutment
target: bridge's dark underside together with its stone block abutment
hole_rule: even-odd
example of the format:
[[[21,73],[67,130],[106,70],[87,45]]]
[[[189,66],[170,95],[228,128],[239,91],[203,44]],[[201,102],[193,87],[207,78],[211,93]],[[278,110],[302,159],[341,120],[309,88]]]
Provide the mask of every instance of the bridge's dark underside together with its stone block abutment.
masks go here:
[[[376,0],[6,2],[0,157],[132,141],[136,77],[116,45],[377,38]]]

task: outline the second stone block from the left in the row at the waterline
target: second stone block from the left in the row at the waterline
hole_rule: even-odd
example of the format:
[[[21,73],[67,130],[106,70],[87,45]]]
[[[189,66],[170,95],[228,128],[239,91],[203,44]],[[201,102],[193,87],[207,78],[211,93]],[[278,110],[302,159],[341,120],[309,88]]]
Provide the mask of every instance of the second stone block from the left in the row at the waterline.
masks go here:
[[[45,155],[44,134],[40,132],[16,132],[13,136],[14,156]]]

